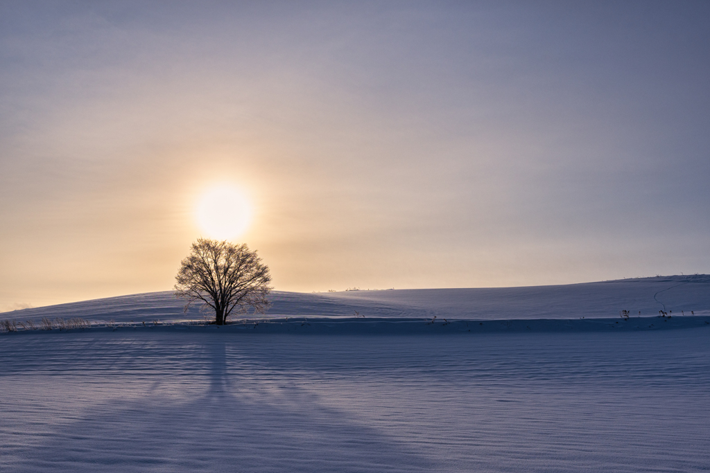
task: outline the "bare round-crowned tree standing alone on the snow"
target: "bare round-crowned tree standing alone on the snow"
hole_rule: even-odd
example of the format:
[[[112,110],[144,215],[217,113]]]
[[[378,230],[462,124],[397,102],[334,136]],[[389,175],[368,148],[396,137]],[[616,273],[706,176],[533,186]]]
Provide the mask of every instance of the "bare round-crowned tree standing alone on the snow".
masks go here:
[[[215,312],[214,322],[224,325],[233,313],[245,313],[253,308],[264,313],[269,307],[271,274],[256,251],[246,245],[198,238],[192,243],[190,255],[180,263],[175,276],[175,296],[191,304],[202,303]]]

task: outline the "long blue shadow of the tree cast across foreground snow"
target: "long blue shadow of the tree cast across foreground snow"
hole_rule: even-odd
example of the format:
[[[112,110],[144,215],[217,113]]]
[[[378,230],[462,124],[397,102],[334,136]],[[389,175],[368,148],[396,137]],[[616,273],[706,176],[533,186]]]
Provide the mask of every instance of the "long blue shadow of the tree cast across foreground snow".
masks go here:
[[[228,345],[219,338],[204,343],[209,357],[207,377],[175,374],[203,384],[202,394],[196,399],[184,401],[184,397],[178,397],[181,401],[174,402],[156,393],[131,401],[109,401],[83,411],[79,420],[48,435],[41,447],[26,451],[13,471],[434,469],[430,460],[413,452],[410,445],[384,435],[346,411],[320,405],[307,390],[276,386],[284,383],[278,374],[271,378],[263,373],[254,376],[249,369],[239,368],[241,355],[228,353]],[[162,384],[170,383],[165,374],[161,376]],[[130,389],[129,383],[126,386]],[[80,408],[78,405],[75,410]]]

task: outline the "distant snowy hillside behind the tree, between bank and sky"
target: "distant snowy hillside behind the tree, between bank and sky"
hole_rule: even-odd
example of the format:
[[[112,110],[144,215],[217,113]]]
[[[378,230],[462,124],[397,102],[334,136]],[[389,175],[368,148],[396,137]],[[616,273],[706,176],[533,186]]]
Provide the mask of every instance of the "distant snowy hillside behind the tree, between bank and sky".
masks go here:
[[[393,289],[297,293],[274,291],[269,316],[366,318],[458,318],[469,320],[618,318],[657,316],[664,309],[680,315],[710,314],[710,276],[651,277],[561,286],[491,289]],[[111,297],[0,313],[0,319],[82,317],[116,322],[201,318],[193,308],[183,313],[182,302],[170,291]]]

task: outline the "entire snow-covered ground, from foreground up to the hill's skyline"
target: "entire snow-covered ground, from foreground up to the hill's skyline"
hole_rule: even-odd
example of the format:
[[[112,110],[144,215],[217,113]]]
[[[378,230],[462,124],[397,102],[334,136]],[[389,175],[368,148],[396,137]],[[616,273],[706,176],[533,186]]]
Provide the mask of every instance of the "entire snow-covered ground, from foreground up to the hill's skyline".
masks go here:
[[[0,319],[42,316],[96,325],[0,334],[1,472],[710,469],[707,276],[276,293],[223,328],[168,325],[200,316],[166,293]]]

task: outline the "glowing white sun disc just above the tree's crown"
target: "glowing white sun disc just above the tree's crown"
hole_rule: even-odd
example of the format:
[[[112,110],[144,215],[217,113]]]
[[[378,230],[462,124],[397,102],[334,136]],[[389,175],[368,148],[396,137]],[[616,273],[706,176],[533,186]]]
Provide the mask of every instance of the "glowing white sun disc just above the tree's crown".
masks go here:
[[[196,216],[197,225],[209,238],[231,240],[249,227],[251,206],[239,188],[222,184],[202,194]]]

